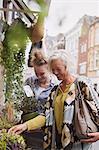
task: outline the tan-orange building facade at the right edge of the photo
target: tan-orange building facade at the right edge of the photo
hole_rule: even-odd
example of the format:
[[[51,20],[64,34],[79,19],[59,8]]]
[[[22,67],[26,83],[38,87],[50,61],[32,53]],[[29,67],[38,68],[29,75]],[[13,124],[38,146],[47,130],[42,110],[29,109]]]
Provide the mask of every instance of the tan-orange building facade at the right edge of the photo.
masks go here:
[[[89,29],[87,76],[94,83],[99,83],[99,18],[96,18]]]

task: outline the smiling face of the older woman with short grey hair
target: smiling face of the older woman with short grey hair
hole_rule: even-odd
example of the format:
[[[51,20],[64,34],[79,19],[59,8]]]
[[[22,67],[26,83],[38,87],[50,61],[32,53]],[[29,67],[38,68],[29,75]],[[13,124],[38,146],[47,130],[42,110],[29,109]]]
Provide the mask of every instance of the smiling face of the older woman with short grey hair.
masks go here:
[[[65,80],[67,76],[66,65],[61,59],[55,59],[51,62],[51,70],[58,80]]]

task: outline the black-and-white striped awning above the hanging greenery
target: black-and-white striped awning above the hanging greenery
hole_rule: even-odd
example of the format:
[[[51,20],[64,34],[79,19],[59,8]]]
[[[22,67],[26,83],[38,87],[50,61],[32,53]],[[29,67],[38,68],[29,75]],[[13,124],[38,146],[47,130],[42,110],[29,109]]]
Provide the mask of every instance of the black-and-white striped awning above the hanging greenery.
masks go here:
[[[8,8],[8,4],[12,2],[14,7],[13,9],[9,9]],[[31,2],[32,4],[32,7],[31,5],[29,6],[29,3]],[[50,2],[51,0],[45,0],[48,8],[50,6]],[[26,22],[29,22],[29,23],[34,23],[34,19],[36,19],[36,17],[38,16],[39,12],[40,12],[40,7],[38,7],[39,9],[35,9],[36,8],[36,5],[38,5],[36,3],[36,1],[33,1],[33,0],[30,0],[30,1],[27,1],[27,0],[3,0],[3,8],[0,8],[1,10],[3,10],[5,12],[5,17],[6,17],[6,11],[16,11],[16,12],[19,12],[22,17],[26,20]],[[34,6],[34,7],[33,7]],[[33,9],[30,9],[33,8]]]

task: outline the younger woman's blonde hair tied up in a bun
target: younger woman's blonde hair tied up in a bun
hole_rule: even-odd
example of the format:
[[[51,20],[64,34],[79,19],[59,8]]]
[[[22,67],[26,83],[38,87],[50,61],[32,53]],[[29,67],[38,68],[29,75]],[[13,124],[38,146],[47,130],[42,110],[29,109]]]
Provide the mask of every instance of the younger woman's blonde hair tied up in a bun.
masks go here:
[[[42,66],[48,64],[47,57],[44,54],[44,51],[41,49],[33,49],[31,54],[31,62],[32,66]]]

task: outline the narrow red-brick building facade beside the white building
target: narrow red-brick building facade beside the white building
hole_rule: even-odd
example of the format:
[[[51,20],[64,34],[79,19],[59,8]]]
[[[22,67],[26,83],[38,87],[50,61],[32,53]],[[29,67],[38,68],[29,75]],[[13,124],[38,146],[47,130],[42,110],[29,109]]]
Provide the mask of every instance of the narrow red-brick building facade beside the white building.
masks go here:
[[[79,75],[87,76],[87,68],[88,68],[88,32],[91,21],[88,18],[84,18],[81,35],[79,37],[78,43],[78,68],[77,73]]]

